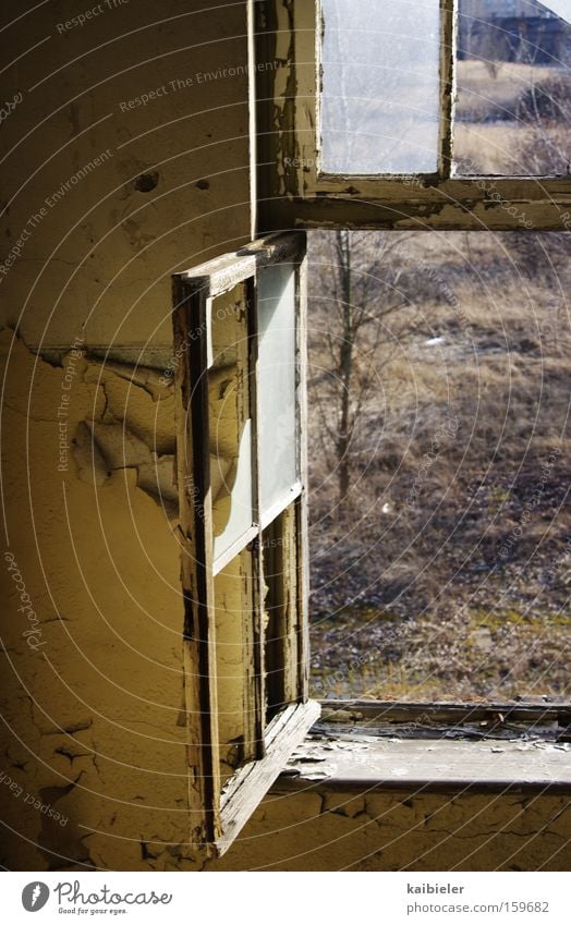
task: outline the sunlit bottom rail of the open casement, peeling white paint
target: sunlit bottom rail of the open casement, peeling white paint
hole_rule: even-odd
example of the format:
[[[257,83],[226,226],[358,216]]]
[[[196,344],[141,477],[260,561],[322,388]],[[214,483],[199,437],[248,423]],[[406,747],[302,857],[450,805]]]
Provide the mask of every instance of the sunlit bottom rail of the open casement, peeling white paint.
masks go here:
[[[222,791],[223,833],[216,841],[219,854],[230,847],[239,831],[282,770],[293,748],[312,728],[320,713],[319,704],[309,701],[284,709],[266,730],[266,756],[241,768]]]

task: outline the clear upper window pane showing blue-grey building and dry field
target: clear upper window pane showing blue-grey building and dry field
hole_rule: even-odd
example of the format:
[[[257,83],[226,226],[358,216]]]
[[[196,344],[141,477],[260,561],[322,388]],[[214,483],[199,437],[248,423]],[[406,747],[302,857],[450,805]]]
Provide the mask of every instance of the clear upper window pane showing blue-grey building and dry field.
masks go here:
[[[459,174],[567,174],[571,3],[460,0]]]

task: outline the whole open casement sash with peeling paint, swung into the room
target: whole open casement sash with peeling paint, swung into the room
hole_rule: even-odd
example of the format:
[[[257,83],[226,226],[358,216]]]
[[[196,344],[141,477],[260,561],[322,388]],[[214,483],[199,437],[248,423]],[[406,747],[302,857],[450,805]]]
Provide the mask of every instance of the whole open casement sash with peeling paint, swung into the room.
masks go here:
[[[174,278],[191,840],[223,852],[308,701],[305,236]]]

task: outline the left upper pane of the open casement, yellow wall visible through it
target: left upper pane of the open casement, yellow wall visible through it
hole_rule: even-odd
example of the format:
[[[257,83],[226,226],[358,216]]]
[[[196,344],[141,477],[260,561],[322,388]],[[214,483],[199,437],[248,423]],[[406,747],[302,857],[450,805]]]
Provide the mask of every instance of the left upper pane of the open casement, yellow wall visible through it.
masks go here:
[[[252,422],[244,287],[216,299],[210,309],[208,370],[214,556],[252,526]]]

